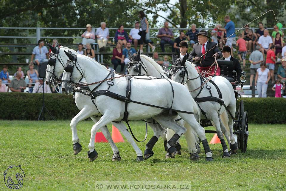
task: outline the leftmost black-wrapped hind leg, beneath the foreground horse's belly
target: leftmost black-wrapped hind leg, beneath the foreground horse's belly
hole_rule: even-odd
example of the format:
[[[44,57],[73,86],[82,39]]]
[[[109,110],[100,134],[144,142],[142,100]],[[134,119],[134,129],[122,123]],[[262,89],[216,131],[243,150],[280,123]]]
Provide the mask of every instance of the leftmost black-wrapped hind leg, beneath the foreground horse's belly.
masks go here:
[[[152,118],[150,118],[152,119]],[[164,132],[164,128],[160,125],[160,124],[153,124],[150,123],[149,126],[153,129],[154,131],[154,136],[150,139],[150,141],[148,141],[148,143],[146,144],[146,149],[144,151],[144,159],[146,160],[147,158],[150,158],[151,156],[154,155],[153,152],[153,147],[156,144],[156,142],[158,141],[158,138],[165,133]]]

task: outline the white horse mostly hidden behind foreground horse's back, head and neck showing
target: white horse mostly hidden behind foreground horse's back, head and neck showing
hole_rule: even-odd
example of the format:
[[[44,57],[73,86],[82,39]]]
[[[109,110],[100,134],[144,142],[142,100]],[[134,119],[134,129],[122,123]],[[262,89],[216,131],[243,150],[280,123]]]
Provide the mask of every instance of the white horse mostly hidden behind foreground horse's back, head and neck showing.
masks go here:
[[[164,74],[165,71],[162,69],[162,67],[159,64],[157,64],[153,60],[153,58],[149,56],[145,56],[145,55],[140,55],[140,59],[136,60],[135,56],[131,55],[130,52],[128,52],[128,57],[130,59],[130,62],[129,62],[129,66],[127,70],[130,75],[149,75],[149,76],[153,76],[156,78],[162,78],[162,77],[168,78],[168,76]],[[138,78],[140,77],[138,76]],[[188,125],[184,123],[184,120],[177,121],[177,123],[182,126]],[[196,135],[195,131],[193,129],[190,129],[190,130],[192,131],[192,134],[190,134],[191,135],[190,138],[195,141],[193,141],[192,145],[189,145],[189,151],[193,153],[196,149],[200,150],[200,146],[199,146],[200,142],[199,142],[198,136]],[[167,129],[167,137],[166,137],[167,140],[170,140],[170,138],[172,138],[174,134],[175,132],[173,130]],[[199,151],[197,153],[199,153]],[[169,153],[166,154],[166,157],[169,157]],[[196,160],[198,159],[198,157],[199,155],[197,154],[193,154],[190,156],[192,160]]]

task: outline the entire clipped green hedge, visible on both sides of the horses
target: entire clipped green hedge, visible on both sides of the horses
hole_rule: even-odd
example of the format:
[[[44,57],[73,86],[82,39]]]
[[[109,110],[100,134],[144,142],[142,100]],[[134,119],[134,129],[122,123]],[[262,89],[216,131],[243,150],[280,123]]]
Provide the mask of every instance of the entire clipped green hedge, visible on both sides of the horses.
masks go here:
[[[0,118],[37,120],[42,108],[41,93],[0,93]],[[241,98],[249,123],[285,124],[285,98]],[[240,100],[237,100],[237,107]],[[72,95],[45,94],[45,106],[55,119],[72,119],[79,110]],[[46,119],[51,119],[45,111]]]

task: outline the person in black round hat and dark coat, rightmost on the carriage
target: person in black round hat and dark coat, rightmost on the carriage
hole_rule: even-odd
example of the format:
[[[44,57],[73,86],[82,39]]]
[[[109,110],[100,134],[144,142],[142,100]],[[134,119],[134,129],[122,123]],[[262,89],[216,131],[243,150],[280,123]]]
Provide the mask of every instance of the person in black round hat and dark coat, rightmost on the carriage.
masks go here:
[[[241,76],[241,66],[237,58],[234,58],[231,56],[231,48],[229,46],[224,46],[223,49],[221,49],[221,52],[223,53],[223,58],[219,60],[231,60],[232,61],[232,66],[223,66],[223,70],[226,71],[236,71],[237,78],[235,78],[236,81],[239,81],[240,76]],[[227,73],[225,73],[227,75]]]

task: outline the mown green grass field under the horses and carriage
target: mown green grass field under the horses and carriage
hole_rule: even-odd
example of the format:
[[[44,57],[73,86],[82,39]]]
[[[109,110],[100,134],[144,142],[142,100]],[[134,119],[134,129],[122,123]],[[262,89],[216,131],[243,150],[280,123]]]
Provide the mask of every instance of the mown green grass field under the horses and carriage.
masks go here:
[[[25,177],[19,190],[95,190],[95,181],[186,181],[188,190],[286,190],[286,125],[250,124],[247,152],[231,159],[221,158],[221,145],[216,144],[210,145],[213,162],[205,160],[203,149],[200,160],[191,162],[182,138],[182,155],[173,159],[164,158],[163,141],[159,139],[153,148],[155,154],[146,161],[136,162],[135,151],[125,142],[116,144],[120,162],[111,161],[113,153],[108,143],[95,144],[99,157],[90,162],[87,151],[93,122],[78,125],[83,150],[76,156],[69,123],[0,121],[0,190],[10,190],[4,183],[4,171],[20,164]],[[144,122],[131,121],[130,126],[142,140]],[[111,124],[108,127],[111,131]],[[153,136],[148,130],[147,140]],[[207,134],[208,141],[212,136]],[[137,143],[143,152],[146,143]]]

